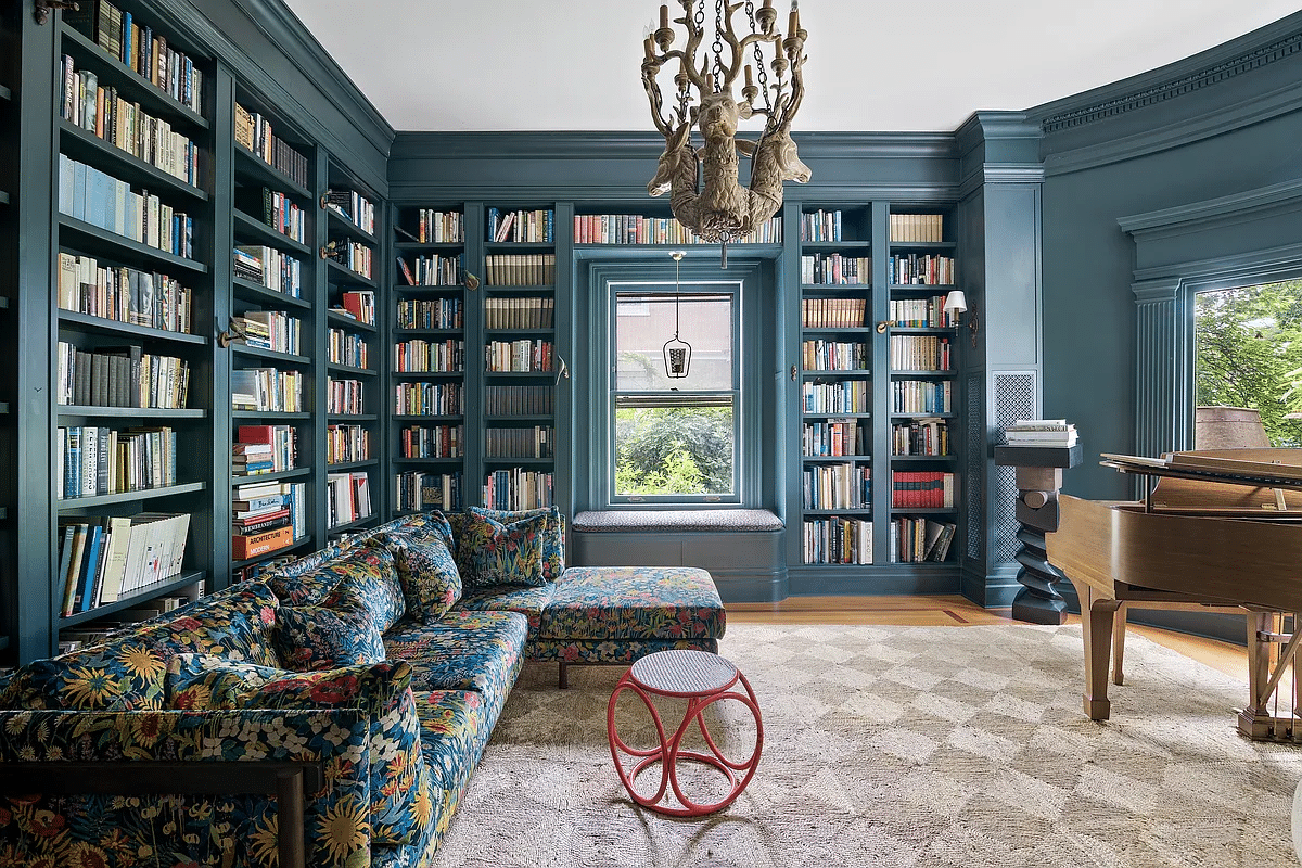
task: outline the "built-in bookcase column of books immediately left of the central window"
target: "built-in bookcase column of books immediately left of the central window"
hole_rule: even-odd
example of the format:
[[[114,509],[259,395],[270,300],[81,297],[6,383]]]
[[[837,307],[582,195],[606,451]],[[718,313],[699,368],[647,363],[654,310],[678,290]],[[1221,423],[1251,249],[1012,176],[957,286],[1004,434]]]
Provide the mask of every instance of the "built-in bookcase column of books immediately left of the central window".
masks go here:
[[[484,213],[479,502],[495,509],[553,502],[556,432],[549,393],[560,363],[555,215],[551,206],[488,207]],[[522,413],[501,413],[512,389]]]

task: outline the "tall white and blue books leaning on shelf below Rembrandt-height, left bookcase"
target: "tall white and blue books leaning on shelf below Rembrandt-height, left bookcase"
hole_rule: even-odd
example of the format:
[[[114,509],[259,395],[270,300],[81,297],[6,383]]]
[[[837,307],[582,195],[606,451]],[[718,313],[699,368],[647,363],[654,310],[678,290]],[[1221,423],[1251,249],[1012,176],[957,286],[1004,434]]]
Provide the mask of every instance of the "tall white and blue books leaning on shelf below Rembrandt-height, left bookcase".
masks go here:
[[[126,599],[181,571],[189,513],[59,519],[60,616]]]

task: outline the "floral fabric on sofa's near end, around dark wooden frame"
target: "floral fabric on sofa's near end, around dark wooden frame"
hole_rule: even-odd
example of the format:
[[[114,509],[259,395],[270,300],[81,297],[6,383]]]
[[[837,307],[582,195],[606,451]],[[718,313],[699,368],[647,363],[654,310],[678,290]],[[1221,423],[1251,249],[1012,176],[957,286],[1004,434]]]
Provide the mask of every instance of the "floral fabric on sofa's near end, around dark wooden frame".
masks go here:
[[[0,761],[309,760],[326,786],[306,800],[307,860],[371,859],[366,713],[310,711],[0,712]],[[4,865],[250,865],[273,868],[275,802],[246,796],[0,796]],[[147,856],[155,854],[156,860]]]

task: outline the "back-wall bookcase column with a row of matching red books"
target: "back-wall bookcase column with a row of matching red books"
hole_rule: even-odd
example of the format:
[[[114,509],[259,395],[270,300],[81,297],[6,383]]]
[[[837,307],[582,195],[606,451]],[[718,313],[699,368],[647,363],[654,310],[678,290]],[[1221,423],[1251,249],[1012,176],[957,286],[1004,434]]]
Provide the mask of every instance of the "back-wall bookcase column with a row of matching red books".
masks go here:
[[[888,216],[891,561],[952,561],[958,474],[958,346],[944,311],[957,289],[952,211],[892,207]]]

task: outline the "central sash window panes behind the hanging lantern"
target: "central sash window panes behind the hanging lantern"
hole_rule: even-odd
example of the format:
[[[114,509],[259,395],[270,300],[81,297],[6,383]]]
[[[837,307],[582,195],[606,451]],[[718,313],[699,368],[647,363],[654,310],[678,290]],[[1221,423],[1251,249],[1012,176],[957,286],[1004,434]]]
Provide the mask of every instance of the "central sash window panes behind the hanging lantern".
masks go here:
[[[611,289],[609,501],[737,502],[736,288]],[[664,345],[676,332],[691,353],[686,376],[671,379]]]

